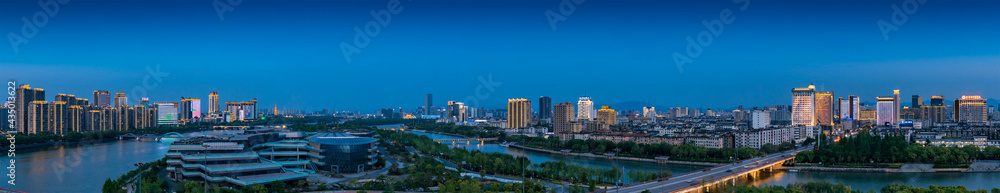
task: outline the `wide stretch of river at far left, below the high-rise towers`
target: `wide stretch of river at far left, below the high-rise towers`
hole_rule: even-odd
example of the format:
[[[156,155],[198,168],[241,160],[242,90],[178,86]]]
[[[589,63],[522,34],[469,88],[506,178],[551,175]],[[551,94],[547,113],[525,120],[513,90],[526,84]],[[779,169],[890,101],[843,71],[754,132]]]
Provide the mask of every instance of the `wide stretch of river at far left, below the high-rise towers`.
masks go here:
[[[242,131],[196,131],[184,133],[184,136],[237,132]],[[143,142],[126,139],[16,149],[15,185],[3,183],[0,187],[31,193],[101,192],[104,180],[117,179],[135,169],[132,164],[163,158],[174,140],[163,138],[161,141]],[[7,180],[10,178],[4,177],[4,181]]]

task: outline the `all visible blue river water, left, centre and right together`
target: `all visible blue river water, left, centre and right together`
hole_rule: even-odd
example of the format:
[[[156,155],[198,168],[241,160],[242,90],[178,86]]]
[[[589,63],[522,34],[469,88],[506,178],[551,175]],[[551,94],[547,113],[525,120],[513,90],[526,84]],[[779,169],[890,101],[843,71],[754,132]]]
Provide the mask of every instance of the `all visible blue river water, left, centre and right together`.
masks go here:
[[[184,133],[187,137],[201,135],[221,135],[239,131],[199,131]],[[434,139],[458,139],[459,137],[420,133]],[[101,185],[108,178],[135,169],[134,163],[150,162],[163,158],[172,139],[159,142],[115,140],[99,143],[56,145],[42,148],[17,149],[16,185],[3,183],[2,188],[26,192],[100,192]],[[534,151],[506,148],[496,144],[460,143],[456,148],[500,152],[517,156],[527,156],[534,163],[563,161],[569,164],[611,168],[624,167],[647,171],[670,170],[674,174],[704,168],[657,164],[637,161],[612,161],[600,158],[569,157]],[[8,159],[0,159],[7,162]],[[4,164],[7,165],[7,164]],[[4,177],[3,181],[9,180]],[[846,173],[846,172],[782,172],[764,173],[760,180],[744,182],[752,185],[785,185],[795,182],[827,180],[842,182],[854,189],[878,190],[891,183],[927,187],[930,185],[965,186],[969,189],[989,189],[1000,187],[1000,173]]]

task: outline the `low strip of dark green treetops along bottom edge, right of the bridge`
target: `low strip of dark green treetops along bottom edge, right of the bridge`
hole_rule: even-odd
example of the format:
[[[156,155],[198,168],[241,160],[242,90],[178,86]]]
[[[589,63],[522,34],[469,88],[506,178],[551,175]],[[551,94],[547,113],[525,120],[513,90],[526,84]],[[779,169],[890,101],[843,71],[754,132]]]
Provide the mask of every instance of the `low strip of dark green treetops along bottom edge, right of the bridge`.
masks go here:
[[[761,187],[751,187],[751,186],[736,186],[729,187],[726,192],[747,192],[747,193],[807,193],[807,192],[824,192],[824,193],[861,193],[860,190],[852,190],[850,186],[844,185],[843,183],[831,183],[828,181],[817,181],[808,183],[794,183],[787,186],[761,186]],[[875,191],[868,191],[870,193],[875,193]],[[1000,188],[993,188],[989,191],[985,189],[979,190],[968,190],[963,186],[934,186],[931,185],[927,188],[913,187],[903,184],[890,184],[883,186],[879,192],[881,193],[936,193],[936,192],[949,192],[949,193],[1000,193]]]

